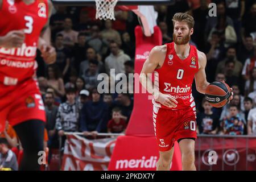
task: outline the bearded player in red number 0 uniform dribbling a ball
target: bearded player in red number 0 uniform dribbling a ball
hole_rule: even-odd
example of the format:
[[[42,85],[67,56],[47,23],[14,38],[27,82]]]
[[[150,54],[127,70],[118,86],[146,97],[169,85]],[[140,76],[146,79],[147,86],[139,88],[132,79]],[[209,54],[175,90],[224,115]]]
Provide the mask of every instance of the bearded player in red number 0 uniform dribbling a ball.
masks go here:
[[[205,93],[209,85],[205,76],[207,58],[189,44],[195,23],[193,17],[176,13],[172,21],[174,42],[151,50],[140,78],[144,88],[154,96],[153,120],[160,151],[156,169],[170,170],[174,142],[177,140],[182,155],[182,169],[196,170],[196,105],[191,89],[195,77],[197,91]],[[152,72],[154,85],[147,76]]]

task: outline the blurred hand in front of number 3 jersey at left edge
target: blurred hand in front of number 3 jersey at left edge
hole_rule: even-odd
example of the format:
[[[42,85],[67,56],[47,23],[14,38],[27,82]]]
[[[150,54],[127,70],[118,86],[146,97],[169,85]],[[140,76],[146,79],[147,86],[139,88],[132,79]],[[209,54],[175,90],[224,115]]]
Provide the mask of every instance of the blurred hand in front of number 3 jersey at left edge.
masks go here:
[[[1,47],[16,48],[21,47],[25,40],[23,30],[12,30],[2,37]]]

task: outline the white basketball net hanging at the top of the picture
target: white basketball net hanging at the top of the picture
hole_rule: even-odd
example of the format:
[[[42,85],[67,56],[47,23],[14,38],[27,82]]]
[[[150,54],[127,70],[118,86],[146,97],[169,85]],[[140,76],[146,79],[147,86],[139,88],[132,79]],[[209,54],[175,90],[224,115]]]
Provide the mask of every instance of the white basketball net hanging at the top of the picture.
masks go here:
[[[114,9],[118,0],[95,0],[96,19],[115,20]]]

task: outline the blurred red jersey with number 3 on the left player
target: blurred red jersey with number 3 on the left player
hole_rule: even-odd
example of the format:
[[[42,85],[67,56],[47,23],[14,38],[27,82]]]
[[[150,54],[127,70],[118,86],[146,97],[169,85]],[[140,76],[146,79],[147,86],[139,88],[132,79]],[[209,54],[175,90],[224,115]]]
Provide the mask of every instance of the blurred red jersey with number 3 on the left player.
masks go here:
[[[34,75],[38,38],[48,20],[47,1],[35,0],[26,5],[22,0],[3,0],[0,36],[9,31],[24,30],[26,38],[20,48],[0,47],[0,85],[17,85]]]

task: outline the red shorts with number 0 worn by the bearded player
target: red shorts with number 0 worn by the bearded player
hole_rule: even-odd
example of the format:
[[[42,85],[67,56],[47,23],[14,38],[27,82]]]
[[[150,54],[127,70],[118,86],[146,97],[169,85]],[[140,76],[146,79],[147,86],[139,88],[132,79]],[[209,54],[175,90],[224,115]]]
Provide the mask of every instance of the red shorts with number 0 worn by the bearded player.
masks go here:
[[[168,151],[183,138],[196,139],[196,113],[192,107],[171,110],[154,106],[153,121],[159,151]]]

